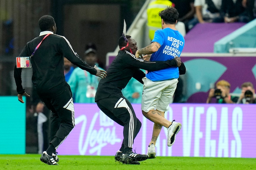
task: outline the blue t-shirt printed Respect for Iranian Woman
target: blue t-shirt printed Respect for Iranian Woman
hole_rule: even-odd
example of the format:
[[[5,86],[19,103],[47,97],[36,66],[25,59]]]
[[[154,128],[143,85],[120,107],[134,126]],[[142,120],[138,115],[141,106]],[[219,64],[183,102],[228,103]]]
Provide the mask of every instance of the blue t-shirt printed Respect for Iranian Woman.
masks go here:
[[[161,47],[151,55],[150,61],[172,60],[181,55],[184,47],[184,37],[177,30],[165,28],[157,30],[152,42],[157,42]],[[159,71],[149,72],[146,77],[152,81],[169,80],[179,77],[178,67],[170,67]]]

